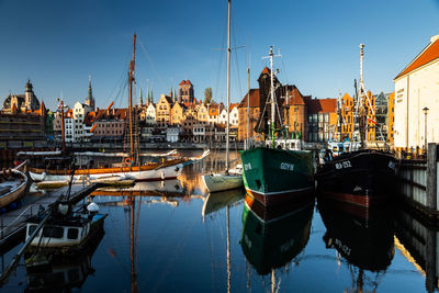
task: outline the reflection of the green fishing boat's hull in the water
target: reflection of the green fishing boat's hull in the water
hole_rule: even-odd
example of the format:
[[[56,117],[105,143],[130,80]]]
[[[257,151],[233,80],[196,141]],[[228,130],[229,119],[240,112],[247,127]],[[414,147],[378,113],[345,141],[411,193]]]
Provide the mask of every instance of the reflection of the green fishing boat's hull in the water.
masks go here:
[[[267,274],[288,264],[305,248],[309,239],[314,200],[302,202],[283,213],[267,212],[267,207],[260,207],[258,201],[254,201],[251,206],[248,202],[246,195],[240,245],[256,271]]]

